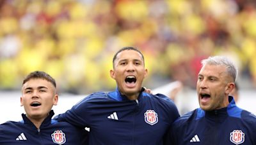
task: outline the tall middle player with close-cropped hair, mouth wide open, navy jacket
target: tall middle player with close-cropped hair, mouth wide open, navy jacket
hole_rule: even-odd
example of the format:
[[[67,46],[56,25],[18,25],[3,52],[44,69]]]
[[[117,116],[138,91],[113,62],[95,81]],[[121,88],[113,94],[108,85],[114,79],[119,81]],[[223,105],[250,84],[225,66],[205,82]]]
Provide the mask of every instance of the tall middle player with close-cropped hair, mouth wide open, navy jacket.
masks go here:
[[[113,57],[110,76],[116,81],[115,91],[88,95],[58,120],[90,127],[90,144],[163,144],[179,113],[165,95],[141,89],[147,76],[143,54],[133,47],[122,48]]]

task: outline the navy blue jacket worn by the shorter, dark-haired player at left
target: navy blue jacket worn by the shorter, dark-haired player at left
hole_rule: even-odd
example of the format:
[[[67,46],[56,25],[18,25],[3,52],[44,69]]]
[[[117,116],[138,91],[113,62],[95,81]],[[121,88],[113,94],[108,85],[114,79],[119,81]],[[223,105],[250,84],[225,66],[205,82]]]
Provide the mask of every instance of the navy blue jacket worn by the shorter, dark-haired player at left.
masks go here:
[[[40,128],[22,114],[22,121],[7,121],[0,125],[0,144],[85,144],[86,130],[74,127],[67,122],[51,120],[53,111],[45,118]]]

